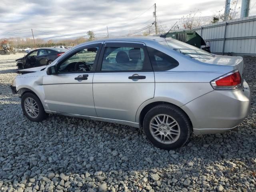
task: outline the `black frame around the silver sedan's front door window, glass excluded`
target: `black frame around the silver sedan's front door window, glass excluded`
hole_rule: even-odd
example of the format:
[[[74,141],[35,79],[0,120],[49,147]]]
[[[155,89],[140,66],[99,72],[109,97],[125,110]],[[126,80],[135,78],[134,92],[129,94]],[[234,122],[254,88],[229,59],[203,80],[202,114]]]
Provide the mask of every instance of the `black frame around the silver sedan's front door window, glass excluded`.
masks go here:
[[[90,45],[86,45],[86,46],[82,46],[82,47],[79,47],[75,50],[72,50],[69,54],[65,55],[63,58],[61,58],[57,63],[56,63],[56,68],[58,69],[58,66],[60,66],[63,62],[65,62],[69,57],[70,55],[73,56],[73,54],[75,52],[79,52],[83,49],[88,49],[88,48],[94,48],[95,46],[98,46],[99,49],[96,53],[96,56],[95,56],[95,60],[94,60],[94,64],[92,66],[92,71],[74,71],[74,72],[57,72],[57,74],[72,74],[72,73],[94,73],[95,70],[96,70],[96,67],[97,67],[97,63],[98,63],[98,59],[99,59],[99,56],[100,56],[100,52],[102,50],[102,43],[99,43],[97,42],[96,44],[90,44]],[[58,70],[57,70],[58,71]]]

